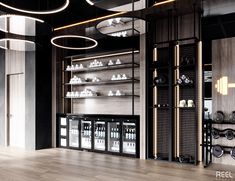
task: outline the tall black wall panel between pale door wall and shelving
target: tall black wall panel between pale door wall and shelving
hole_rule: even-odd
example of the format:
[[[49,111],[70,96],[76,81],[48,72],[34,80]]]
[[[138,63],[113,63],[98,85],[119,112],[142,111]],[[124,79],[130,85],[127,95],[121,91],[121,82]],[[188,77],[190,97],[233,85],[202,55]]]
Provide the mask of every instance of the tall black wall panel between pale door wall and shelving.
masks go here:
[[[44,48],[36,53],[36,149],[52,146],[52,61],[51,47],[43,38]]]

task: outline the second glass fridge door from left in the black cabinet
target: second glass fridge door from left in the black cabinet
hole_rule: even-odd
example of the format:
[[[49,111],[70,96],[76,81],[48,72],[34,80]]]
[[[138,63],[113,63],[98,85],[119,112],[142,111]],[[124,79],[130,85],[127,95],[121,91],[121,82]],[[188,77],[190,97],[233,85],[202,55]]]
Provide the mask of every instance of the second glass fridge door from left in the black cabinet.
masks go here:
[[[92,141],[92,122],[90,120],[81,119],[81,148],[91,149]]]

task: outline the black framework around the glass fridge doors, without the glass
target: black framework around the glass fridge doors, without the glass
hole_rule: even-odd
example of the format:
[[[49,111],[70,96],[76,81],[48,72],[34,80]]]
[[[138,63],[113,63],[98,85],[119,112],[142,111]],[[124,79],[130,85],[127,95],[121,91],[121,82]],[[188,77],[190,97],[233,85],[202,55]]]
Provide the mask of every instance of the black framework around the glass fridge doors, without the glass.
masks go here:
[[[67,126],[61,126],[60,125],[60,118],[66,118],[67,119]],[[78,147],[71,147],[69,145],[69,120],[76,120],[78,121],[78,132],[79,132],[79,146]],[[81,131],[81,121],[82,120],[87,120],[87,121],[91,121],[91,149],[87,149],[87,148],[82,148],[81,145],[81,135],[82,135],[82,131]],[[94,122],[95,121],[101,121],[101,122],[105,122],[105,150],[97,150],[94,148]],[[119,141],[120,141],[120,150],[119,152],[112,152],[108,150],[108,123],[109,122],[118,122],[119,123]],[[128,154],[128,153],[124,153],[123,152],[123,123],[124,122],[130,122],[130,123],[135,123],[136,125],[136,150],[135,150],[135,154]],[[60,139],[62,138],[60,135],[60,129],[66,127],[67,129],[67,136],[63,138],[67,139],[67,146],[61,146],[60,144]],[[120,155],[120,156],[127,156],[127,157],[134,157],[134,158],[139,158],[140,153],[139,153],[139,140],[140,140],[140,136],[139,136],[139,116],[132,116],[132,115],[75,115],[75,114],[57,114],[57,140],[58,140],[58,144],[57,147],[61,147],[61,148],[68,148],[68,149],[74,149],[74,150],[85,150],[85,151],[90,151],[90,152],[97,152],[97,153],[105,153],[105,154],[111,154],[111,155]]]

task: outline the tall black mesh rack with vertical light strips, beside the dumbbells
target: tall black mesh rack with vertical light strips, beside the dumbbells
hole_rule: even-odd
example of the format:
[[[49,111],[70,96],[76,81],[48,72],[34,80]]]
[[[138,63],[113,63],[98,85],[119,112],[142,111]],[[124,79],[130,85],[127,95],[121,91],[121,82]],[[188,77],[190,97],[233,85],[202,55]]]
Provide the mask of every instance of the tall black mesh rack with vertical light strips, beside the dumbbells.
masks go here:
[[[148,116],[153,120],[148,122],[153,128],[149,132],[149,158],[198,163],[198,41],[192,38],[189,42],[163,42],[153,49],[148,79],[164,74],[168,80],[164,84],[148,83]],[[183,65],[183,57],[193,62]],[[181,75],[187,75],[193,83],[179,84]],[[180,100],[190,104],[183,107]]]

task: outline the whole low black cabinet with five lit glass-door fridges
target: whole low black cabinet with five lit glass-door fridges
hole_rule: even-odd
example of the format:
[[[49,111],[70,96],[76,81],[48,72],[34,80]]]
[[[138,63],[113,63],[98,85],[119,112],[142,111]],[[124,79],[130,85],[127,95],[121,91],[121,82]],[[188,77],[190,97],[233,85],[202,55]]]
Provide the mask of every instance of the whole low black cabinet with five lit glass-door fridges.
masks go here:
[[[58,147],[139,157],[139,116],[57,115]]]

